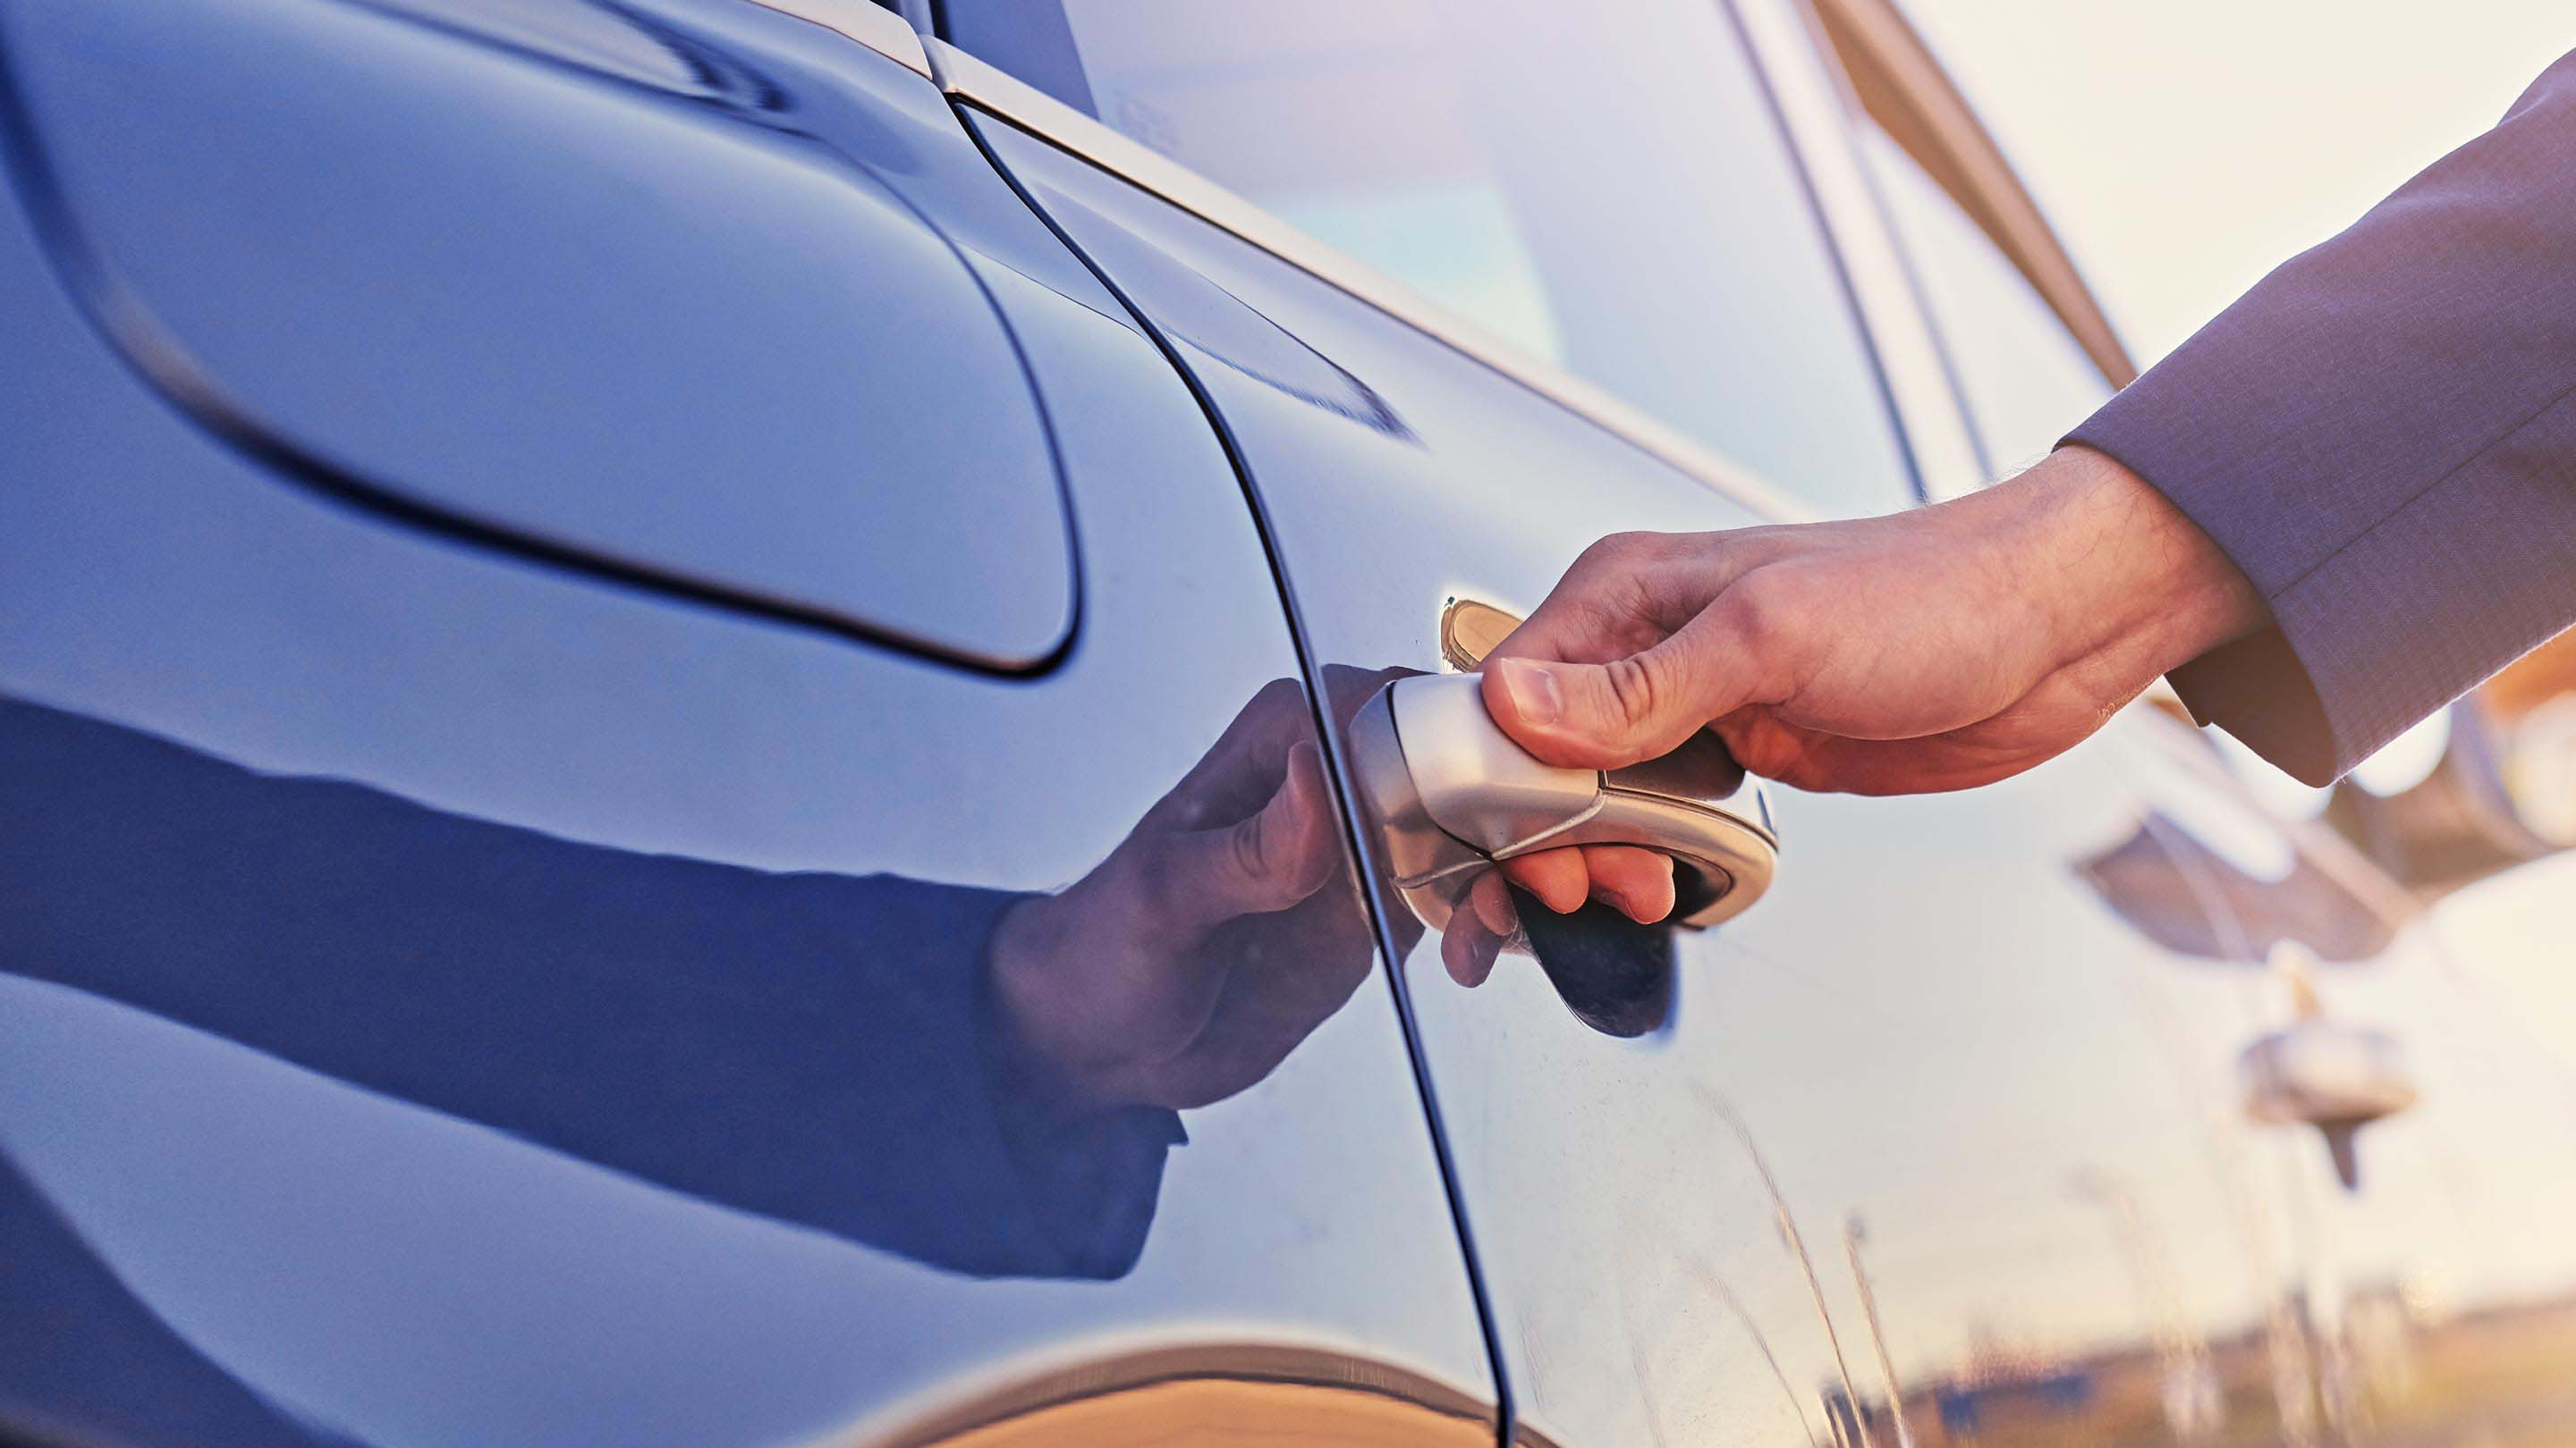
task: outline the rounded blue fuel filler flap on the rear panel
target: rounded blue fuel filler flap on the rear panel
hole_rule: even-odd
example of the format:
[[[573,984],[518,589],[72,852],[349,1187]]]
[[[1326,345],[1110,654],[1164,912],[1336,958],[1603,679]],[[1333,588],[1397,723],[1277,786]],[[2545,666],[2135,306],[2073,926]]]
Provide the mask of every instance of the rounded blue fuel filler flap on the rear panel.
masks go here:
[[[997,670],[1072,636],[1048,417],[984,296],[1054,242],[956,204],[992,180],[917,75],[850,64],[855,113],[791,113],[793,62],[587,0],[152,26],[26,0],[8,36],[57,263],[209,428],[314,487],[762,616]]]

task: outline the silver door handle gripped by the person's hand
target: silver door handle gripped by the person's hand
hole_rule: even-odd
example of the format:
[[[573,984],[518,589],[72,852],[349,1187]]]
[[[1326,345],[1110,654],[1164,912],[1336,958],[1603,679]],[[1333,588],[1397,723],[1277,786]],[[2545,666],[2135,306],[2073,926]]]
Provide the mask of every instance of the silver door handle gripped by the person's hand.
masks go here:
[[[1546,765],[1484,711],[1476,675],[1399,678],[1350,721],[1352,773],[1404,902],[1440,930],[1494,861],[1643,845],[1674,861],[1672,922],[1705,930],[1770,889],[1770,801],[1731,768]]]

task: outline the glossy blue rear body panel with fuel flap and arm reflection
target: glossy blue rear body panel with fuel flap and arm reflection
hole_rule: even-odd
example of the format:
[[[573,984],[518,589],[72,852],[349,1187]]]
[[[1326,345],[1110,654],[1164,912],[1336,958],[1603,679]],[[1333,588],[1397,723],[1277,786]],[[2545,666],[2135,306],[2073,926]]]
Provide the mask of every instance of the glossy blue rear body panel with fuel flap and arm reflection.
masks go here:
[[[1218,438],[835,23],[0,8],[0,1438],[1492,1440]]]

